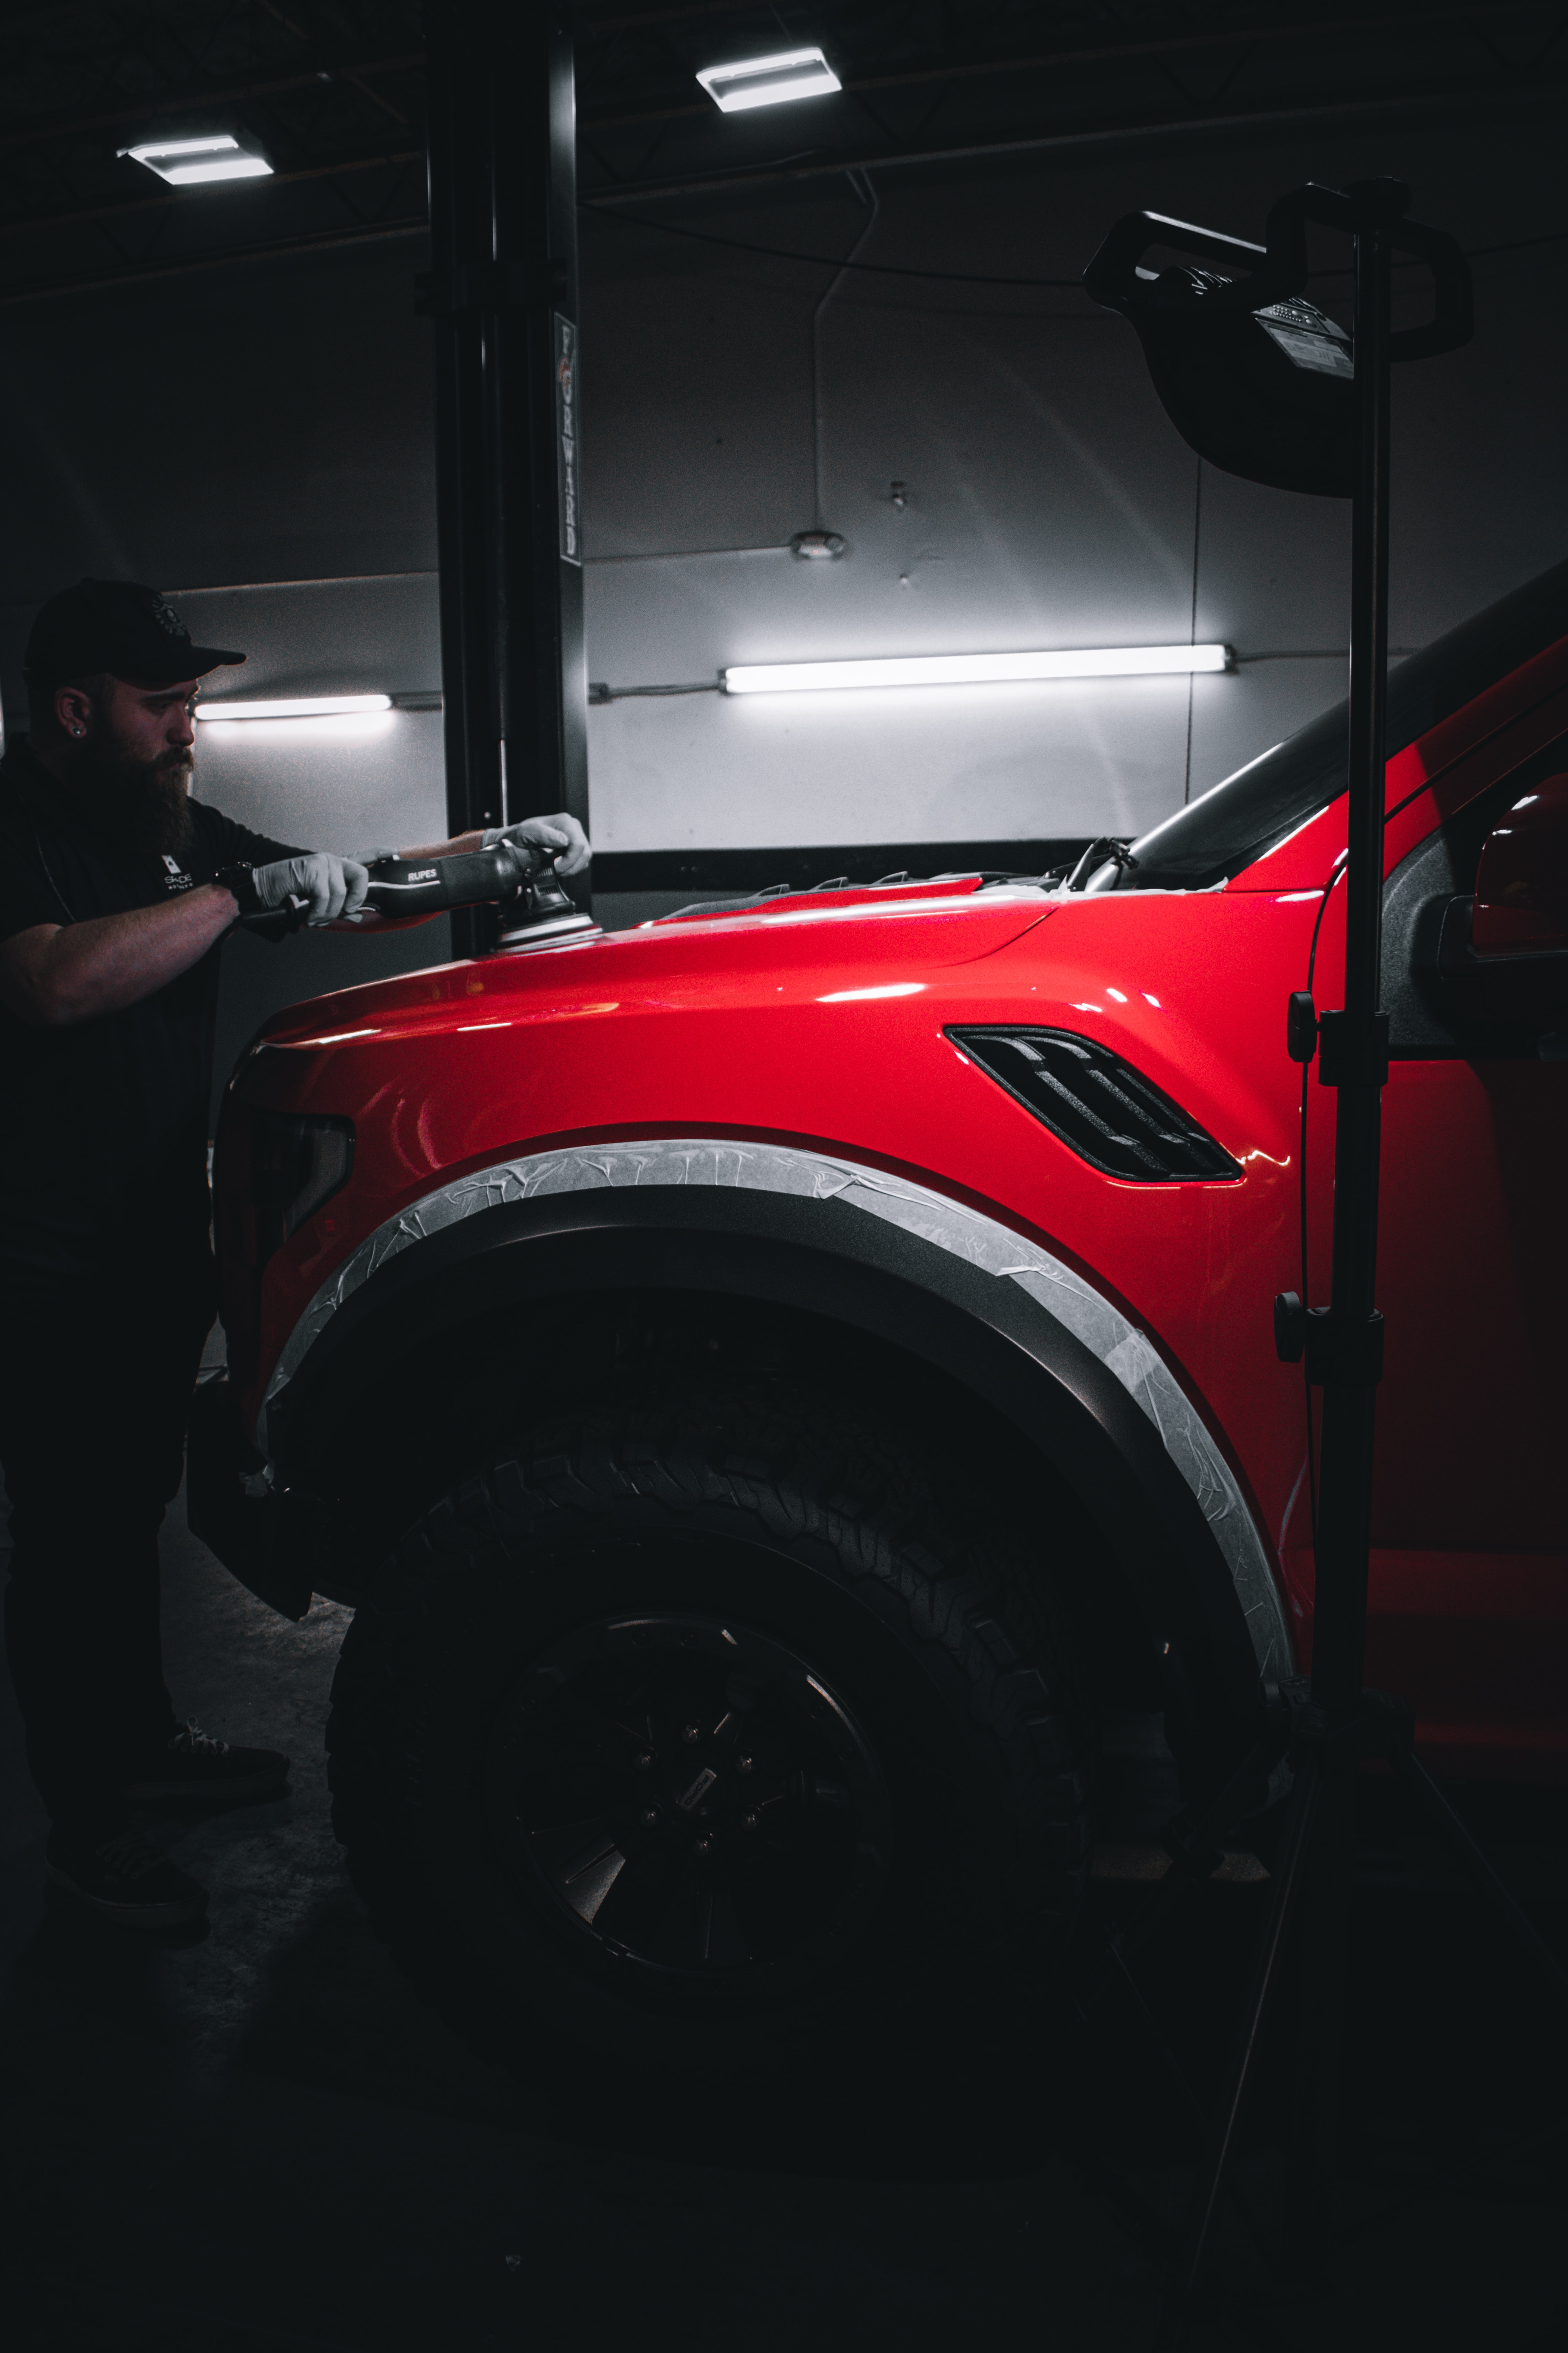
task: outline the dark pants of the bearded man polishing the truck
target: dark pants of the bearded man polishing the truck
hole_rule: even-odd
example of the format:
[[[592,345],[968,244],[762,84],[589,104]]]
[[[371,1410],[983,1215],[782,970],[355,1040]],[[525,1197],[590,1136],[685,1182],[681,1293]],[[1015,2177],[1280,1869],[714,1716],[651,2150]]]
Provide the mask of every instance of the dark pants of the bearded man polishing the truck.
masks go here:
[[[181,1480],[216,1271],[205,1245],[150,1259],[103,1285],[0,1271],[5,1652],[33,1781],[56,1828],[89,1842],[120,1828],[120,1784],[176,1732],[158,1527]]]

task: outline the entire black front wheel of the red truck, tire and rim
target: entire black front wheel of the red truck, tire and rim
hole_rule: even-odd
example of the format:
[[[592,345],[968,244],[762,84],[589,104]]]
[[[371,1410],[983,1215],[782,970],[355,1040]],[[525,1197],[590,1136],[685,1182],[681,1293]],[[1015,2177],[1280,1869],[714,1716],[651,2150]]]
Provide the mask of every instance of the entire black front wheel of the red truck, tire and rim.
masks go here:
[[[994,1995],[1081,1897],[1084,1725],[1051,1565],[940,1485],[778,1398],[534,1431],[343,1645],[360,1887],[599,2054],[790,2064],[933,1981]]]

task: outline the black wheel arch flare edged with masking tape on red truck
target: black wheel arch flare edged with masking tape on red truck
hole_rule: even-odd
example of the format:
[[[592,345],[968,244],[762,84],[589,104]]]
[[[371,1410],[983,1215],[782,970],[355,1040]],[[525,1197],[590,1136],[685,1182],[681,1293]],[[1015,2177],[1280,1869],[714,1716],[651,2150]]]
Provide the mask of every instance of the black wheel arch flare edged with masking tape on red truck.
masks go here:
[[[362,1454],[355,1400],[416,1417],[475,1322],[515,1337],[548,1393],[562,1308],[592,1318],[628,1292],[788,1311],[929,1367],[1074,1494],[1204,1715],[1246,1722],[1262,1680],[1291,1673],[1262,1541],[1147,1339],[999,1221],[790,1146],[614,1144],[437,1188],[317,1292],[259,1435],[289,1482],[331,1492]]]

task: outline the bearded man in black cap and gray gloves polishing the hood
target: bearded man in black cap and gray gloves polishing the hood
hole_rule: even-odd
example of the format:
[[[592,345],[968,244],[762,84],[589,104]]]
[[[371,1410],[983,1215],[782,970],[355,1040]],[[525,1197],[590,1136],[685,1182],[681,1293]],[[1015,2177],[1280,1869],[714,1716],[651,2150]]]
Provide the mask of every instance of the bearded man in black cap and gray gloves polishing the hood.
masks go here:
[[[33,729],[0,762],[0,1464],[12,1506],[5,1645],[49,1871],[129,1927],[193,1920],[205,1889],[132,1807],[249,1802],[289,1760],[174,1715],[158,1527],[181,1480],[216,1273],[209,1245],[219,944],[242,913],[350,918],[367,868],[249,833],[190,798],[193,645],[134,581],[85,579],[38,614]],[[574,816],[503,838],[588,866]]]

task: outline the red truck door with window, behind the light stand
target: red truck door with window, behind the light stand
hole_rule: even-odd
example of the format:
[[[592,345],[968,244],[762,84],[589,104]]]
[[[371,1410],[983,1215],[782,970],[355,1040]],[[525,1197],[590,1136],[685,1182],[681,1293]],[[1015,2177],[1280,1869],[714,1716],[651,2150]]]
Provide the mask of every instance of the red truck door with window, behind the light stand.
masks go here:
[[[1559,741],[1455,816],[1434,805],[1385,885],[1387,1369],[1366,1673],[1415,1704],[1425,1748],[1460,1774],[1568,1769],[1563,769]],[[1333,1099],[1312,1094],[1309,1257],[1326,1297]]]

